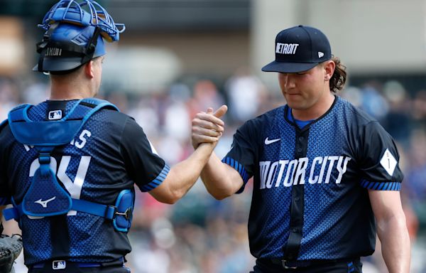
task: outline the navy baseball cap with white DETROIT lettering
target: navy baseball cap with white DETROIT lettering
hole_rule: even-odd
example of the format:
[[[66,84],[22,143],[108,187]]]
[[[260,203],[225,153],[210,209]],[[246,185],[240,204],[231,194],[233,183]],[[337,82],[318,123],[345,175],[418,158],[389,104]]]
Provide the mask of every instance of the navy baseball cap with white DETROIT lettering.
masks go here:
[[[324,33],[310,26],[294,26],[278,33],[275,60],[265,65],[262,71],[297,73],[331,58],[332,48]]]

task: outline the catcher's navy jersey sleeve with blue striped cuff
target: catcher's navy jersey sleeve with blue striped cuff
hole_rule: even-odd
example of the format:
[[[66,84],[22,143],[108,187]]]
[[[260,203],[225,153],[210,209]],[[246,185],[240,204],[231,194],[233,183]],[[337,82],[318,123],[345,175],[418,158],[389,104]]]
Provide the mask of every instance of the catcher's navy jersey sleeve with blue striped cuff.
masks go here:
[[[141,191],[147,192],[163,183],[170,167],[158,156],[143,129],[129,117],[121,137],[121,154],[126,171]]]

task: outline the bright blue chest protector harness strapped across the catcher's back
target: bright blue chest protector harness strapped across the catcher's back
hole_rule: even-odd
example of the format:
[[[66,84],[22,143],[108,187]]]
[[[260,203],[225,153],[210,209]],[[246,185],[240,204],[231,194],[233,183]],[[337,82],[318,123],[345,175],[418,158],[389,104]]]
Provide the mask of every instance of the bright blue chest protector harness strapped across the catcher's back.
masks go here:
[[[53,169],[55,166],[50,165],[50,154],[53,149],[56,146],[70,144],[92,114],[104,108],[116,111],[119,109],[105,100],[88,98],[77,102],[70,112],[60,120],[33,122],[28,118],[30,107],[32,105],[20,105],[12,109],[9,112],[9,126],[17,141],[33,146],[38,151],[39,166],[22,203],[14,204],[13,210],[4,210],[5,218],[18,219],[21,215],[46,217],[77,210],[111,219],[116,230],[127,231],[133,211],[133,190],[122,191],[114,205],[74,199],[58,182],[55,175],[56,170]],[[116,225],[116,223],[118,224]]]

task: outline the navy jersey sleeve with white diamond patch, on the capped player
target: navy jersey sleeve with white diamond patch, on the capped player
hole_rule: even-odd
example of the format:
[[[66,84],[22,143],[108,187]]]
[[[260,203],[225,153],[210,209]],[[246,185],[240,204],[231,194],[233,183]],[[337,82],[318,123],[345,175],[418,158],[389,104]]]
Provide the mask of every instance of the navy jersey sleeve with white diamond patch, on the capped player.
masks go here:
[[[392,137],[378,122],[365,125],[361,135],[361,186],[378,191],[399,191],[403,173],[398,149]]]

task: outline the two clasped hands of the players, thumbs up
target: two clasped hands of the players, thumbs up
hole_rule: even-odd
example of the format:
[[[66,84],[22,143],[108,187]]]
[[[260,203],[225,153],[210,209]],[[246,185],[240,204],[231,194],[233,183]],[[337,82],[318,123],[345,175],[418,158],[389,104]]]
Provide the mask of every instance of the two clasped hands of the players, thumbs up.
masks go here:
[[[191,141],[194,149],[202,143],[209,143],[216,146],[219,138],[224,132],[224,122],[220,119],[228,110],[226,105],[222,105],[216,112],[213,108],[207,109],[207,112],[198,112],[192,119]]]

